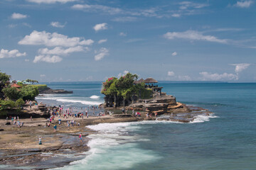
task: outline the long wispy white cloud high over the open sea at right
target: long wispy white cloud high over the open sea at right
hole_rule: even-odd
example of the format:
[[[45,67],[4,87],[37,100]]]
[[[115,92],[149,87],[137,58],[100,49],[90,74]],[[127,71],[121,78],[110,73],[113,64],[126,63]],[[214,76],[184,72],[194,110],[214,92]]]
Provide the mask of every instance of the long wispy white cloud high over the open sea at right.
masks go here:
[[[167,38],[169,40],[174,38],[182,38],[186,40],[204,40],[204,41],[210,41],[210,42],[219,42],[219,43],[227,43],[228,40],[218,39],[214,37],[213,35],[203,35],[203,33],[200,33],[196,30],[186,30],[185,32],[168,32],[164,34],[164,38]]]

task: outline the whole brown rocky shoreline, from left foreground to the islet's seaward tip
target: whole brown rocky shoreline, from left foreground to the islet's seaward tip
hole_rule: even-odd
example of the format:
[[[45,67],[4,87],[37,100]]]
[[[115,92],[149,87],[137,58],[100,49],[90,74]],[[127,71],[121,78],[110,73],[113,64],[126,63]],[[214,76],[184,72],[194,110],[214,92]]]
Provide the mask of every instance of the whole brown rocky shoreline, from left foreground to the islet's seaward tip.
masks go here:
[[[162,101],[163,102],[163,101]],[[172,101],[173,102],[173,101]],[[145,108],[146,106],[146,108]],[[168,108],[169,112],[162,109]],[[186,106],[183,103],[157,104],[154,102],[147,105],[137,103],[127,106],[126,113],[122,113],[123,108],[105,108],[105,113],[108,111],[114,113],[112,115],[91,116],[89,118],[73,118],[63,119],[63,123],[58,125],[58,121],[51,123],[50,128],[46,127],[46,117],[48,113],[41,111],[32,106],[25,106],[23,112],[27,115],[38,115],[40,118],[30,120],[28,116],[20,121],[24,123],[22,128],[17,125],[6,125],[10,120],[0,120],[0,164],[4,169],[15,169],[18,167],[26,167],[28,169],[51,169],[62,167],[79,159],[86,157],[85,152],[90,148],[87,147],[87,142],[90,140],[87,135],[97,133],[88,129],[87,125],[95,125],[98,123],[120,123],[142,120],[166,120],[180,123],[191,123],[198,115],[210,115],[210,111]],[[132,114],[132,109],[138,111],[140,116]],[[150,114],[149,114],[150,113]],[[156,116],[156,113],[159,115]],[[149,114],[149,116],[147,116]],[[47,116],[44,116],[47,115]],[[43,116],[45,118],[43,118]],[[80,123],[80,126],[67,127],[67,120],[75,120]],[[53,126],[58,125],[57,132],[54,132]],[[80,143],[78,135],[82,132],[83,142]],[[38,136],[42,137],[43,145],[38,145]],[[67,155],[73,155],[72,158]],[[54,159],[53,159],[54,158]],[[1,167],[1,166],[0,166]]]

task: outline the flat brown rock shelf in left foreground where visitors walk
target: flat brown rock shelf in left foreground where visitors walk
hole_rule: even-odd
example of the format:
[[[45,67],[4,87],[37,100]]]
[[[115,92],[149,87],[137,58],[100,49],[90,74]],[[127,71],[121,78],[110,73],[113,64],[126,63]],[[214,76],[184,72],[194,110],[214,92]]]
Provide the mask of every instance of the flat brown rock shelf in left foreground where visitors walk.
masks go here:
[[[98,123],[119,123],[137,121],[138,118],[114,118],[106,115],[100,118],[91,117],[88,119],[68,118],[75,120],[80,126],[67,127],[66,123],[58,125],[57,132],[54,132],[52,123],[50,128],[44,126],[46,119],[36,118],[32,121],[21,119],[24,123],[22,128],[16,125],[5,125],[6,120],[0,120],[0,164],[6,165],[5,168],[24,167],[28,169],[51,169],[68,165],[70,162],[84,159],[85,154],[90,148],[87,142],[90,140],[87,135],[95,133],[87,125]],[[83,142],[80,143],[78,135],[82,132]],[[41,135],[43,145],[38,145],[38,136]],[[73,155],[66,157],[67,155]],[[53,160],[54,158],[54,160]],[[53,164],[54,163],[54,164]],[[23,168],[21,168],[23,169]]]

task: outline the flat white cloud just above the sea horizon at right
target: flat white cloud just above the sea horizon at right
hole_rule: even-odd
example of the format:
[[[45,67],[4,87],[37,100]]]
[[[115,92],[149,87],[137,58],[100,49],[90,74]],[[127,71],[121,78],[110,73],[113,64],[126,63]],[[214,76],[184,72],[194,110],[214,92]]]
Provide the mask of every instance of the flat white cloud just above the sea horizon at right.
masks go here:
[[[203,81],[208,81],[208,80],[212,80],[212,81],[225,80],[225,81],[227,81],[227,80],[238,79],[237,75],[228,74],[228,73],[223,73],[223,74],[214,73],[214,74],[211,74],[209,72],[200,72],[199,74],[201,74]]]

